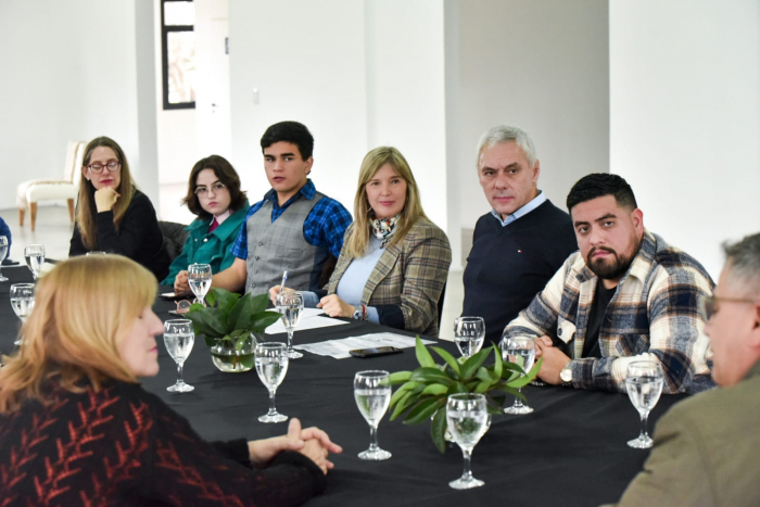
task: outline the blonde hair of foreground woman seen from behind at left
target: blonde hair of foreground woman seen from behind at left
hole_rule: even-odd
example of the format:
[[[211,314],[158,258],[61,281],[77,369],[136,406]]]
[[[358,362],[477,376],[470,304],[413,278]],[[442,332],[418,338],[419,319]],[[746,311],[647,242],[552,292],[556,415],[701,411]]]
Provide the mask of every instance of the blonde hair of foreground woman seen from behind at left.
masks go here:
[[[74,257],[43,276],[35,308],[22,328],[23,345],[0,369],[0,414],[26,400],[45,402],[45,382],[81,391],[107,379],[137,382],[118,345],[155,299],[157,282],[121,255]]]

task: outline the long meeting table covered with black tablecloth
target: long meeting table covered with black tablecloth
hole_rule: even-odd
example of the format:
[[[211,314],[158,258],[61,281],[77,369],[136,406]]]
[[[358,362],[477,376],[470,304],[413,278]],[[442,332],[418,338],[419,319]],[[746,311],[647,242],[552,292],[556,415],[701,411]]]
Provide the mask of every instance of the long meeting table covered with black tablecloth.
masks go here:
[[[9,301],[10,286],[29,282],[24,266],[4,267],[10,281],[0,283],[0,353],[13,351],[20,321]],[[161,290],[164,289],[164,290]],[[159,292],[169,291],[160,288]],[[156,299],[153,309],[163,319],[175,303]],[[97,310],[97,309],[96,309]],[[356,337],[392,330],[371,322],[349,321],[329,328],[295,331],[294,344]],[[268,408],[268,394],[254,370],[224,373],[213,365],[207,346],[197,339],[185,363],[190,393],[168,393],[177,369],[159,342],[160,373],[143,379],[143,386],[189,419],[206,440],[262,439],[283,434],[287,422],[265,424],[257,420]],[[286,334],[267,334],[267,341],[286,341]],[[439,345],[458,356],[453,343]],[[472,472],[485,481],[482,487],[455,491],[448,482],[463,470],[458,446],[444,454],[433,445],[430,424],[407,426],[389,420],[379,427],[379,443],[393,454],[385,461],[363,461],[357,454],[369,446],[369,427],[353,395],[354,375],[360,370],[410,370],[417,367],[414,348],[403,354],[373,358],[333,359],[304,353],[290,363],[277,390],[277,409],[301,419],[304,427],[317,426],[343,446],[332,455],[335,468],[328,474],[328,489],[309,506],[595,506],[617,502],[626,484],[642,468],[648,451],[626,442],[638,435],[638,414],[628,395],[561,386],[525,386],[534,411],[524,416],[494,416],[491,428],[474,448]],[[683,395],[663,395],[649,416],[649,428]],[[511,403],[511,400],[507,400]]]

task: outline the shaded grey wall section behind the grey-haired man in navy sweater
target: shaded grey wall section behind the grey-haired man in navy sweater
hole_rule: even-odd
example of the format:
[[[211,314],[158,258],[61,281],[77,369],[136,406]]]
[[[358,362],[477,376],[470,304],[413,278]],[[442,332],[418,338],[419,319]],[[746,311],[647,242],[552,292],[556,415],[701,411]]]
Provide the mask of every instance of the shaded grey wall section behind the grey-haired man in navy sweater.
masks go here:
[[[563,210],[580,177],[608,170],[607,1],[458,0],[446,14],[458,17],[446,24],[447,39],[458,40],[447,41],[446,55],[448,156],[455,165],[448,185],[457,189],[460,210],[458,224],[449,214],[449,237],[474,227],[490,210],[478,183],[476,148],[485,130],[502,123],[531,134],[541,161],[539,188]]]

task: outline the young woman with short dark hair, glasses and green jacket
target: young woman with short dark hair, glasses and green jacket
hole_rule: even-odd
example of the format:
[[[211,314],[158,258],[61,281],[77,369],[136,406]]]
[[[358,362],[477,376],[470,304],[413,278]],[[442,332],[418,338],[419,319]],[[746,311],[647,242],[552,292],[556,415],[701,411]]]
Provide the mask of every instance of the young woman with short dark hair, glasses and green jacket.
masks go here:
[[[208,264],[213,274],[227,269],[235,262],[230,246],[245,221],[250,207],[240,177],[232,165],[219,155],[195,163],[188,180],[188,194],[182,200],[198,216],[187,227],[188,239],[182,253],[174,259],[162,286],[174,286],[175,292],[190,292],[187,268],[190,264]]]

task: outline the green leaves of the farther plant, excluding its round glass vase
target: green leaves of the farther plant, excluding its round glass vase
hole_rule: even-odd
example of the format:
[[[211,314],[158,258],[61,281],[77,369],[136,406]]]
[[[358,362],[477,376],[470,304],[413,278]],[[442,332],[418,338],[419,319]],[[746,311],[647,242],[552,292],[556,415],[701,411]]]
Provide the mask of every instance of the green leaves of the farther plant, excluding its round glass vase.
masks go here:
[[[280,314],[267,312],[267,294],[241,296],[216,287],[206,294],[208,306],[193,303],[185,316],[192,320],[195,334],[203,334],[206,345],[230,341],[240,351],[251,333],[262,333]]]

